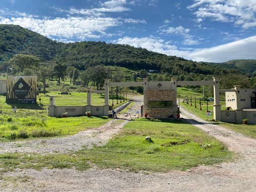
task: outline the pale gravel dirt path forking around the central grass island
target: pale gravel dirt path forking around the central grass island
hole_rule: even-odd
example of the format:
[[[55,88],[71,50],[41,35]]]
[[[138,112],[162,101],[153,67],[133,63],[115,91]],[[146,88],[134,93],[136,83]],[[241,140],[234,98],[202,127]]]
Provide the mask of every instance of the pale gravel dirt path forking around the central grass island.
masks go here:
[[[0,143],[0,153],[15,150],[23,153],[29,151],[29,148],[33,148],[32,151],[36,153],[54,153],[61,150],[79,150],[82,145],[91,146],[92,143],[103,144],[112,134],[118,133],[131,117],[137,115],[141,103],[142,98],[127,113],[127,117],[118,114],[118,117],[123,119],[121,123],[115,123],[116,120],[113,120],[97,129],[83,131],[75,136],[32,143],[22,142],[18,143],[19,147],[17,142]],[[218,167],[199,165],[191,169],[191,172],[172,171],[168,174],[149,175],[118,169],[89,169],[84,172],[74,169],[26,169],[4,174],[5,178],[11,177],[12,180],[0,180],[0,191],[255,191],[256,140],[198,119],[183,109],[181,111],[181,117],[224,142],[229,150],[237,152],[241,158],[236,162],[219,164]]]

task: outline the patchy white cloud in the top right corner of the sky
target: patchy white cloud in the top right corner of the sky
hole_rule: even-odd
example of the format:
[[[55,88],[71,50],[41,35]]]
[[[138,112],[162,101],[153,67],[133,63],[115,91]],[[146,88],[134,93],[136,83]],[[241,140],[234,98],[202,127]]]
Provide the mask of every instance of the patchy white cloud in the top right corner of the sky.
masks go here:
[[[255,0],[194,0],[194,2],[187,8],[194,10],[199,7],[194,12],[198,22],[208,17],[219,22],[231,22],[243,29],[256,27]]]

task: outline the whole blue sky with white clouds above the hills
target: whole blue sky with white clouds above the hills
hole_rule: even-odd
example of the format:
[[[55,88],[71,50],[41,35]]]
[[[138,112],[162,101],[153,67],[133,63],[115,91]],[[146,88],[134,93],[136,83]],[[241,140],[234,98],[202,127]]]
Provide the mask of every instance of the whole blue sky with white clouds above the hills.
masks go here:
[[[256,59],[255,0],[1,0],[0,24],[194,61]]]

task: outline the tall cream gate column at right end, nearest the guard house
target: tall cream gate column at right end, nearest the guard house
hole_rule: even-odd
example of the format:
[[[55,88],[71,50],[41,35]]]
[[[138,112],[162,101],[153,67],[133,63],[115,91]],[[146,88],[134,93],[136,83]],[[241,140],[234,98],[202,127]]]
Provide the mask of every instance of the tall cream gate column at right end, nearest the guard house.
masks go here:
[[[220,80],[219,77],[214,79],[214,119],[221,121],[221,105],[220,105]]]

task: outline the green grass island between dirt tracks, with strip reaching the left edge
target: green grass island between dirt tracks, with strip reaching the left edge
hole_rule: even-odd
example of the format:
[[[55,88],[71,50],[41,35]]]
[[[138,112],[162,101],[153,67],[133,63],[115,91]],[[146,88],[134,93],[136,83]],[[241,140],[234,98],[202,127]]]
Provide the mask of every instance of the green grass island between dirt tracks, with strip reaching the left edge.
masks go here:
[[[146,141],[146,136],[151,136],[152,141]],[[103,146],[67,154],[0,154],[0,175],[16,168],[86,170],[92,165],[166,173],[233,158],[234,154],[223,143],[184,121],[137,119],[127,123],[119,135]]]

